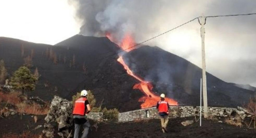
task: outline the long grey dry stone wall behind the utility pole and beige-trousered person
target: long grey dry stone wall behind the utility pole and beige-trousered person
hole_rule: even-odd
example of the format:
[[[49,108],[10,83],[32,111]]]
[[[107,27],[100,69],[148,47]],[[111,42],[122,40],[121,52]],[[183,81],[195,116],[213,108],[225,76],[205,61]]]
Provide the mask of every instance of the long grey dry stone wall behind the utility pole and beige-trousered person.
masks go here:
[[[238,108],[225,108],[225,107],[208,107],[209,116],[240,116],[242,119],[249,117],[250,114],[242,107]],[[190,117],[199,116],[200,107],[193,106],[170,106],[169,118],[176,117]],[[203,107],[202,107],[203,115]],[[129,111],[124,113],[119,113],[118,122],[129,122],[135,120],[145,120],[145,119],[158,119],[158,111],[155,107]]]

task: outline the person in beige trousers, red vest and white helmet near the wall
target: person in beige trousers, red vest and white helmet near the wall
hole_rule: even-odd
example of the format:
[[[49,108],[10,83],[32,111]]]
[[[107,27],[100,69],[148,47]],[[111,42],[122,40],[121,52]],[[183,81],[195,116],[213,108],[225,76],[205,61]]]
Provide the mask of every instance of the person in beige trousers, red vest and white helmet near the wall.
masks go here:
[[[165,98],[164,94],[161,94],[160,98],[161,98],[160,101],[157,102],[157,109],[158,109],[158,114],[161,120],[162,131],[163,133],[166,133],[167,132],[166,126],[169,120],[168,116],[169,116],[170,107],[169,107],[169,103],[164,100]]]

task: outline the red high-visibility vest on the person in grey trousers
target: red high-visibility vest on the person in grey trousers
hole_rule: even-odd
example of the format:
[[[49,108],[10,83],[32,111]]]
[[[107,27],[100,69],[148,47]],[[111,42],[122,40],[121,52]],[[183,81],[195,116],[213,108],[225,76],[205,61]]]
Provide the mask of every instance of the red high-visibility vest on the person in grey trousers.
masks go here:
[[[86,111],[85,111],[85,101],[87,99],[84,98],[84,97],[81,97],[79,99],[77,99],[75,101],[75,107],[74,107],[74,110],[73,110],[73,114],[77,114],[77,115],[81,115],[81,116],[84,116]]]

